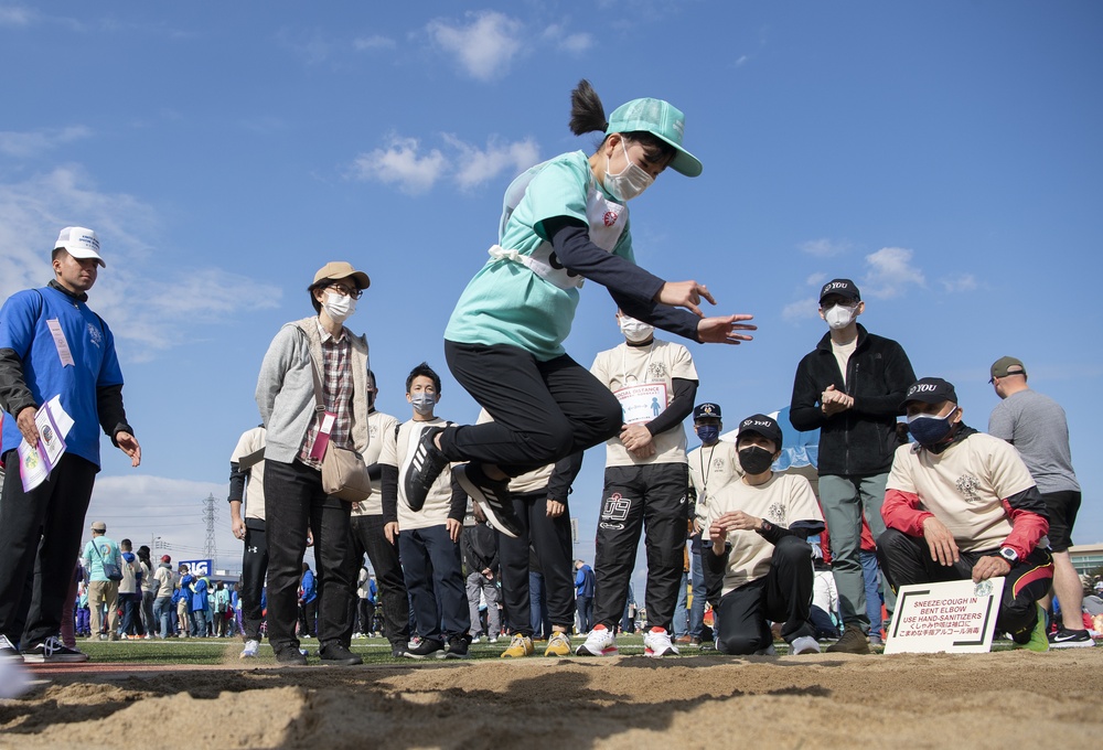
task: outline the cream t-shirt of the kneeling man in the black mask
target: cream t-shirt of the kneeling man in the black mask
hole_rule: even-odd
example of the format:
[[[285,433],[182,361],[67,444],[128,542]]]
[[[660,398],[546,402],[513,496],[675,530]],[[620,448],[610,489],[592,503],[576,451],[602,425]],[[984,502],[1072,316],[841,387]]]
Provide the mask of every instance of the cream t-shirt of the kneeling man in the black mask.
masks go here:
[[[705,535],[708,535],[708,527],[714,521],[735,511],[765,518],[783,528],[797,521],[824,519],[812,485],[800,474],[774,473],[764,484],[751,486],[736,480],[720,488],[708,506]],[[773,545],[758,532],[729,532],[728,542],[731,543],[731,551],[724,570],[721,594],[764,577],[770,572],[773,557]]]

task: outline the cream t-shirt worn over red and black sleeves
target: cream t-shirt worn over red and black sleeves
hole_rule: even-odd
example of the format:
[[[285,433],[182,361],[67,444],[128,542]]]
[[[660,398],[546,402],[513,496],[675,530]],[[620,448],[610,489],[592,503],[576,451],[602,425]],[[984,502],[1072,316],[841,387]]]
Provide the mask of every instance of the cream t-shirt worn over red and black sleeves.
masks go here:
[[[1034,484],[1013,446],[976,432],[941,453],[918,443],[900,446],[885,489],[919,495],[922,507],[950,529],[957,547],[972,553],[999,547],[1011,533],[1003,501]],[[1049,542],[1043,537],[1039,544]]]

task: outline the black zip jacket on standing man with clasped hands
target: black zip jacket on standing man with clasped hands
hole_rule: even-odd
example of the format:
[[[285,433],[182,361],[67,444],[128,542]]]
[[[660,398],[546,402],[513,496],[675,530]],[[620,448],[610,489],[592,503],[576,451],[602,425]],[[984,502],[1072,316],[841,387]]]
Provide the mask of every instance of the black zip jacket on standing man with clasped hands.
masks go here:
[[[897,417],[903,398],[915,382],[915,372],[903,347],[858,325],[858,344],[843,373],[832,351],[831,333],[796,366],[789,421],[802,432],[820,429],[821,474],[882,474],[892,465],[897,441]],[[825,416],[820,409],[827,386],[854,398],[846,411]]]

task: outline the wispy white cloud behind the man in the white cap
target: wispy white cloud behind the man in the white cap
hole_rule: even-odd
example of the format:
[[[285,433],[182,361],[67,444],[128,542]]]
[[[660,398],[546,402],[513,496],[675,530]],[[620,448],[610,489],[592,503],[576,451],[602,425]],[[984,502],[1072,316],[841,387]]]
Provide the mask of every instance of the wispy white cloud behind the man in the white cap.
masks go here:
[[[173,264],[172,274],[153,272],[147,262],[152,239],[163,235],[156,212],[132,195],[98,191],[77,167],[0,183],[0,299],[50,280],[50,249],[68,225],[99,235],[107,268],[90,303],[109,322],[119,349],[132,346],[131,361],[188,343],[199,335],[196,323],[226,324],[235,314],[279,303],[279,288],[217,268]],[[188,248],[156,251],[162,259],[188,256]]]

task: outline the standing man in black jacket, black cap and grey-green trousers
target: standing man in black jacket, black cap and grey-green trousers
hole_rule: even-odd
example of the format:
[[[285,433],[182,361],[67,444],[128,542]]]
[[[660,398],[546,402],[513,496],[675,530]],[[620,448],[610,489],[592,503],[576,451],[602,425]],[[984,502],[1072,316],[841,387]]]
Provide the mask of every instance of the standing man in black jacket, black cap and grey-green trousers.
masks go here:
[[[829,331],[801,360],[789,420],[802,432],[820,430],[820,503],[831,534],[843,638],[827,651],[868,654],[869,615],[861,575],[861,514],[874,538],[885,533],[881,502],[898,444],[896,422],[915,382],[897,342],[858,324],[866,311],[850,279],[820,291],[820,317]]]

